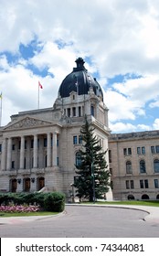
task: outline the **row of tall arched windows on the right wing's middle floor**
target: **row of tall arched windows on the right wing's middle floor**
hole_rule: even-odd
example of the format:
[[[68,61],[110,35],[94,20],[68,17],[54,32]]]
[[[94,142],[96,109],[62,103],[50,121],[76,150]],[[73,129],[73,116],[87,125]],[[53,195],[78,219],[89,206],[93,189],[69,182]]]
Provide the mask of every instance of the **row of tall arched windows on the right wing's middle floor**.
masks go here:
[[[146,165],[145,165],[144,160],[141,160],[139,162],[139,172],[141,174],[146,173]],[[154,173],[159,173],[159,160],[158,159],[154,159]],[[131,161],[126,162],[126,174],[132,174],[132,162]]]

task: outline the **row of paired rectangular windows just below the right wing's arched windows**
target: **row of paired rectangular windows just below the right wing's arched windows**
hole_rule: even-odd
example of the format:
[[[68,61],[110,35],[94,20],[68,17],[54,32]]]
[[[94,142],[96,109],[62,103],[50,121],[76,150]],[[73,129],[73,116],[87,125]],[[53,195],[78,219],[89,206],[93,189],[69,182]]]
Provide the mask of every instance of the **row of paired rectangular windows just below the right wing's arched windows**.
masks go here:
[[[139,186],[140,186],[140,188],[149,188],[148,179],[140,179]],[[133,189],[134,181],[133,180],[125,180],[125,187],[126,187],[126,189]],[[159,188],[159,180],[156,178],[154,179],[154,188]]]

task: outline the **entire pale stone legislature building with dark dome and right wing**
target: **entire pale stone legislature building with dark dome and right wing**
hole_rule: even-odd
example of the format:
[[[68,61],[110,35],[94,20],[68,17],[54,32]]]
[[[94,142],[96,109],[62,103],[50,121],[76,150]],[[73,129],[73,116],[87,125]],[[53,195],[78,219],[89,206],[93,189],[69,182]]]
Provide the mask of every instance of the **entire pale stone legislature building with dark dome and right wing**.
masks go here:
[[[107,150],[106,199],[159,199],[159,131],[111,133],[100,84],[83,59],[76,65],[61,82],[53,107],[19,112],[0,128],[0,191],[62,191],[69,200],[86,114]]]

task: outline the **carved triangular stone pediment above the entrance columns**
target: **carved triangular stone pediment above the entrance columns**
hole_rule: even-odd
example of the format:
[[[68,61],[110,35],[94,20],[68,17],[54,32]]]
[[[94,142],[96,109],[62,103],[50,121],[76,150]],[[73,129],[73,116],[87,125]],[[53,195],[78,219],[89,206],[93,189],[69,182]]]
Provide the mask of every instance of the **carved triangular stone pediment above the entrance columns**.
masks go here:
[[[32,118],[26,116],[25,118],[18,120],[14,123],[8,123],[4,130],[17,130],[17,129],[25,129],[25,128],[32,128],[32,127],[44,127],[52,124],[51,122],[40,120],[37,118]]]

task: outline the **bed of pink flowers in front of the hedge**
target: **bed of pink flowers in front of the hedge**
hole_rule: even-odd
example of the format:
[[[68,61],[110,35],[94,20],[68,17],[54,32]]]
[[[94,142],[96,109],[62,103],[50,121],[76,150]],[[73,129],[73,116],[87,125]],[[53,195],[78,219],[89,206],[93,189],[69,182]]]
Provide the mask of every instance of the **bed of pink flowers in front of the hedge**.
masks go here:
[[[39,207],[37,206],[0,206],[0,212],[4,213],[19,213],[19,212],[37,212],[39,211]]]

